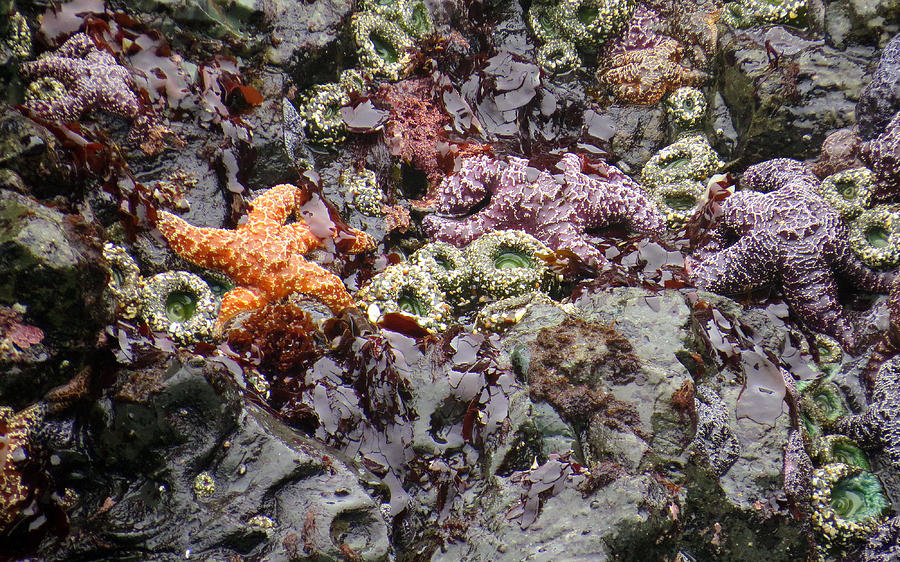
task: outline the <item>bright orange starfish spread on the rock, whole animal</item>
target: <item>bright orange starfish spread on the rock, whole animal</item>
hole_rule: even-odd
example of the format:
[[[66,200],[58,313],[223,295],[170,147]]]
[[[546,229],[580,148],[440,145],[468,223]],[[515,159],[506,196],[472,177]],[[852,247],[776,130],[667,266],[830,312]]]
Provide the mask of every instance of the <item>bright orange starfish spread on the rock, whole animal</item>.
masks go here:
[[[200,228],[171,213],[158,213],[156,227],[175,253],[201,267],[228,275],[236,287],[222,298],[216,331],[234,315],[260,308],[298,292],[312,295],[335,313],[354,306],[340,277],[303,258],[322,245],[299,217],[285,224],[305,192],[280,184],[250,204],[247,222],[235,230]],[[375,247],[372,237],[350,229],[355,236],[348,254]]]

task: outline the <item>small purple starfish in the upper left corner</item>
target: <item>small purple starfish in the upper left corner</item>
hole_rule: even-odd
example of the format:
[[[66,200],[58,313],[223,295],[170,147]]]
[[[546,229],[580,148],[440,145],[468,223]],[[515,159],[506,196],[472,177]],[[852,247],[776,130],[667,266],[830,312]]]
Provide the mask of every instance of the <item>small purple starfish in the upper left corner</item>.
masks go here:
[[[53,54],[22,63],[19,68],[25,78],[50,77],[66,88],[58,96],[25,103],[42,119],[74,121],[98,108],[132,119],[140,110],[128,69],[97,48],[84,33],[73,35]]]

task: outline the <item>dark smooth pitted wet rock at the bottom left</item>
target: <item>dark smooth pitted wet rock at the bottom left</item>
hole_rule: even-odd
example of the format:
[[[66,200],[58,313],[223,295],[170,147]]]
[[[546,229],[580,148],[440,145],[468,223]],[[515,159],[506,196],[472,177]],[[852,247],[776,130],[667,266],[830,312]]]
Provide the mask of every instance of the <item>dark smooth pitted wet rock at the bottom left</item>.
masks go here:
[[[60,455],[77,530],[42,555],[86,556],[99,540],[114,558],[387,560],[369,477],[236,390],[227,369],[199,358],[123,376],[99,415],[82,417],[96,435],[85,472]]]

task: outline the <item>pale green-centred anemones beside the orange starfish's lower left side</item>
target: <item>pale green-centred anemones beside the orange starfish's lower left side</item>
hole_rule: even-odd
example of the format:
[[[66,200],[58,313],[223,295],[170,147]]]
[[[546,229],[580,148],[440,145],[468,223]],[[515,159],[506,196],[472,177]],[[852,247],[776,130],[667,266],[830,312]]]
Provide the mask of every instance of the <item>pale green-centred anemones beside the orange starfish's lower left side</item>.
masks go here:
[[[103,258],[109,274],[107,290],[121,318],[142,318],[155,332],[190,345],[212,338],[222,295],[231,281],[214,272],[207,278],[189,271],[164,271],[149,277],[121,246],[106,243]]]

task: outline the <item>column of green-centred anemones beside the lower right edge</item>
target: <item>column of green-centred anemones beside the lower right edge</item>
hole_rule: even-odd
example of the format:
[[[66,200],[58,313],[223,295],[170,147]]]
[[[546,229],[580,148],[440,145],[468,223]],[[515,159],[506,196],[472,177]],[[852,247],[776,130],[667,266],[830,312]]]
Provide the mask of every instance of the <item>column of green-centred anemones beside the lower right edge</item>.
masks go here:
[[[818,467],[811,475],[812,523],[822,552],[842,555],[883,523],[889,501],[860,445],[836,432],[850,415],[840,388],[830,376],[797,387],[806,449]]]

